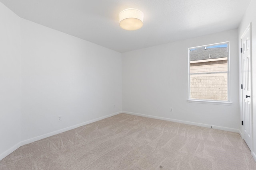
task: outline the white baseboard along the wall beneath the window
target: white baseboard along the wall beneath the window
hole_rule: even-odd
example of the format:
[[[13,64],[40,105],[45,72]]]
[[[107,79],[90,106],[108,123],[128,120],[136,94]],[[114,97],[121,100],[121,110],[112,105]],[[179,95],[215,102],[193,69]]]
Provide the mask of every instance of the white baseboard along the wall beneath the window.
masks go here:
[[[213,125],[207,125],[207,124],[202,124],[202,123],[195,123],[195,122],[191,122],[191,121],[183,121],[183,120],[170,119],[170,118],[158,117],[158,116],[152,116],[152,115],[144,115],[144,114],[133,113],[133,112],[128,112],[128,111],[123,111],[122,113],[136,115],[136,116],[142,116],[142,117],[149,117],[149,118],[153,118],[153,119],[172,121],[172,122],[176,122],[176,123],[184,123],[187,125],[195,125],[195,126],[208,127],[208,128],[212,127],[212,129],[218,129],[218,130],[223,130],[223,131],[239,133],[239,129],[233,129],[233,128],[229,128],[229,127],[213,126]]]

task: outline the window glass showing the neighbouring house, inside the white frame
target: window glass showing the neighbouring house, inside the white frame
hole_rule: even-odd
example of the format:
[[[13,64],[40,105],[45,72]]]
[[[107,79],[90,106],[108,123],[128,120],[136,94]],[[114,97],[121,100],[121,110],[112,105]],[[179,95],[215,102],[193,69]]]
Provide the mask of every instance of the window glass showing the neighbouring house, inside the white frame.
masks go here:
[[[230,102],[229,43],[192,47],[189,52],[189,100]]]

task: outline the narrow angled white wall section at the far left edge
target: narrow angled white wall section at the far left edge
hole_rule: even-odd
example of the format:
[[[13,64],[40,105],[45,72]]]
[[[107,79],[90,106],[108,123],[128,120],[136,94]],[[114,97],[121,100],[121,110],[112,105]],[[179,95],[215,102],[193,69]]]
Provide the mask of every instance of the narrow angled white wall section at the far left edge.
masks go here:
[[[20,19],[0,3],[0,159],[20,142]],[[16,149],[17,147],[15,147]]]

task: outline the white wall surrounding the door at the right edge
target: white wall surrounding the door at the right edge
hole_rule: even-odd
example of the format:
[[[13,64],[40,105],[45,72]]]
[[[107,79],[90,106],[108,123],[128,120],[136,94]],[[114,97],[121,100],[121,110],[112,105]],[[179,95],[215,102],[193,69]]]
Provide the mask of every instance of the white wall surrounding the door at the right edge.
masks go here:
[[[249,25],[249,23],[252,23],[252,97],[256,96],[256,1],[252,0],[250,2],[250,5],[248,6],[248,9],[246,10],[246,13],[244,14],[244,18],[242,19],[242,22],[239,26],[239,40],[242,34],[244,33],[244,30]],[[239,41],[239,45],[240,41]],[[240,49],[241,47],[239,47]],[[240,56],[239,56],[240,57]],[[239,63],[241,65],[241,63]],[[240,84],[242,84],[242,78],[240,74]],[[241,93],[240,93],[241,94]],[[242,96],[240,96],[242,99]],[[240,109],[241,110],[241,109]],[[252,155],[254,156],[254,159],[256,160],[256,98],[252,98],[252,111],[253,111],[253,149],[252,149]],[[242,117],[242,110],[241,110],[241,117]],[[240,119],[241,121],[241,119]],[[242,131],[242,126],[240,126],[240,129]]]

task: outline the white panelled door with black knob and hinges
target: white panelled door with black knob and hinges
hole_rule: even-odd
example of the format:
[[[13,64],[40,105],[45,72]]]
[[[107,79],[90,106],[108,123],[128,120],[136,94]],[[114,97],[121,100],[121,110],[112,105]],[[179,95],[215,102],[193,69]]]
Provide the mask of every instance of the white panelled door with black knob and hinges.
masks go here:
[[[252,96],[251,96],[251,35],[250,25],[241,37],[242,43],[242,118],[243,136],[250,150],[252,150]]]

